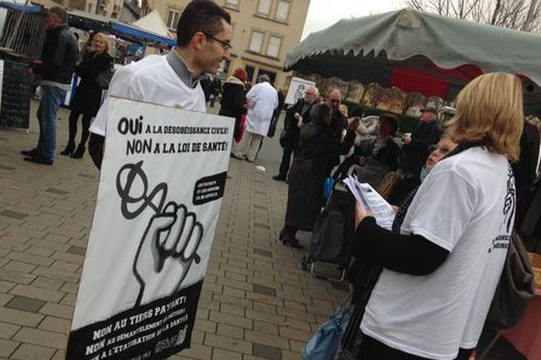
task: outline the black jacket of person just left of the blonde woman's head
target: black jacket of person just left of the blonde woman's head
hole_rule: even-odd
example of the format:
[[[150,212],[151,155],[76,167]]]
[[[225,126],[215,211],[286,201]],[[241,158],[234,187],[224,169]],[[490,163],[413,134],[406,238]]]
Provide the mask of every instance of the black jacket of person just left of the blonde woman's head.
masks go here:
[[[430,155],[431,145],[436,144],[442,136],[442,130],[436,121],[422,122],[411,134],[411,142],[402,147],[400,169],[405,173],[418,175]]]

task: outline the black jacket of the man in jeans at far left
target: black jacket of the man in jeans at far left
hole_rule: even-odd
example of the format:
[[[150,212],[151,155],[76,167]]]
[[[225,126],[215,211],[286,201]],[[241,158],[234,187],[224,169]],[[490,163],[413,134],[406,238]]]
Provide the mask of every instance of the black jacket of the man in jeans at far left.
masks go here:
[[[78,58],[78,46],[75,36],[68,25],[60,25],[47,30],[41,50],[41,64],[32,64],[32,70],[43,80],[60,84],[71,84],[71,76]]]

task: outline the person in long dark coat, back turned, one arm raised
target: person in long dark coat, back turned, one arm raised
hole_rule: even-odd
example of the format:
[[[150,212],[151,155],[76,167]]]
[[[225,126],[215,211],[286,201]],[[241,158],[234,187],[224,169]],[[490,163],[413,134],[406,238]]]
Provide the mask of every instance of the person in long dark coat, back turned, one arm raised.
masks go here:
[[[331,128],[331,107],[318,103],[310,111],[311,122],[300,130],[297,155],[289,171],[288,207],[280,241],[301,248],[297,230],[311,231],[321,211],[326,170],[331,157],[345,154],[353,145],[355,119],[347,128],[344,141],[336,139]]]

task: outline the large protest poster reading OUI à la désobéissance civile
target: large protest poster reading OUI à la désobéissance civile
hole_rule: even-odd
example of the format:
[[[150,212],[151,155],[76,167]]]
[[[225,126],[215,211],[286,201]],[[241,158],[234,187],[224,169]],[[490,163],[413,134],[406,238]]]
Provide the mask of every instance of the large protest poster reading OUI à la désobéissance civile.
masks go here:
[[[234,120],[111,99],[68,360],[190,346]]]

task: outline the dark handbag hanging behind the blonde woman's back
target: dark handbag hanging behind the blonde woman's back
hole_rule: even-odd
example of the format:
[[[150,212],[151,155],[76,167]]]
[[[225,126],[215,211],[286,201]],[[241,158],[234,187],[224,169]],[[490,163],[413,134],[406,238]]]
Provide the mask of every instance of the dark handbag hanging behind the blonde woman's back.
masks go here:
[[[509,329],[518,324],[527,305],[536,295],[534,272],[527,257],[526,247],[513,231],[500,283],[485,320],[490,329]]]

